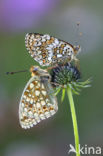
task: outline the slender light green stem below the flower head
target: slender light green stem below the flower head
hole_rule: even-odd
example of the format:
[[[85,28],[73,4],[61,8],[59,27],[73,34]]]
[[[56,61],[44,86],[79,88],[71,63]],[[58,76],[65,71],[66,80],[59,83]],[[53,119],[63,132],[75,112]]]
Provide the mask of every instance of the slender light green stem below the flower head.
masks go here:
[[[76,118],[76,112],[75,112],[75,106],[74,106],[72,91],[71,91],[71,89],[69,87],[67,89],[67,95],[68,95],[68,99],[69,99],[69,102],[70,102],[70,109],[71,109],[71,115],[72,115],[74,137],[75,137],[75,149],[76,149],[76,152],[77,152],[76,156],[80,156],[77,118]]]

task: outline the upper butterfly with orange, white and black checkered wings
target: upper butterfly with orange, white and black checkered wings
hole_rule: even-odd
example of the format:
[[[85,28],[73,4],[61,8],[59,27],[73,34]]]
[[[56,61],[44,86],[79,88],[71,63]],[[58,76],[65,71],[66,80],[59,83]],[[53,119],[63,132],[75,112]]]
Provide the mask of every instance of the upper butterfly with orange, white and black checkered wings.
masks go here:
[[[48,34],[38,33],[27,33],[25,45],[30,55],[41,66],[54,66],[77,60],[76,54],[81,49],[79,45],[73,46]]]

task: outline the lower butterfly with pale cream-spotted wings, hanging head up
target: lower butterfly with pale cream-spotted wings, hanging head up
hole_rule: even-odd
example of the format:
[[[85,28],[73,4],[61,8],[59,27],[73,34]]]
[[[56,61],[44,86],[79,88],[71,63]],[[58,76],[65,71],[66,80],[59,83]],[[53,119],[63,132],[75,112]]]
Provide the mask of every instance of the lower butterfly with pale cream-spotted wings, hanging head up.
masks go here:
[[[58,110],[47,70],[32,66],[30,71],[32,77],[24,88],[19,104],[19,121],[24,129],[51,117]]]

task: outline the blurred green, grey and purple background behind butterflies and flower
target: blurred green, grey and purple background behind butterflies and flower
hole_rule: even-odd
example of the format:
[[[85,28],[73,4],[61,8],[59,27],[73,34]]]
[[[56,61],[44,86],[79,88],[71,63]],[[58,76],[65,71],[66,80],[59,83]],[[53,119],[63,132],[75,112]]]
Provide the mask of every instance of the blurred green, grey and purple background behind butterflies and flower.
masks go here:
[[[55,116],[29,130],[19,125],[19,101],[30,73],[5,72],[36,64],[25,48],[28,32],[48,33],[81,45],[82,78],[92,77],[93,82],[74,96],[80,143],[103,146],[102,25],[103,0],[0,1],[0,156],[67,156],[69,144],[74,145],[69,103],[67,99],[61,103],[59,96]]]

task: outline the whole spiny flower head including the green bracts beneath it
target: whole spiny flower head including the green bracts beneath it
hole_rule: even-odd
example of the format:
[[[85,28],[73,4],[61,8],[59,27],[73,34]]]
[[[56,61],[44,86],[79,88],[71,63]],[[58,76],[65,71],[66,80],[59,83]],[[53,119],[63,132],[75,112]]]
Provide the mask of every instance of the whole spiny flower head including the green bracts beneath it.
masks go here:
[[[55,88],[56,95],[62,90],[62,101],[68,87],[71,88],[75,94],[79,94],[81,88],[90,87],[90,79],[82,82],[80,70],[73,63],[59,64],[52,69],[51,83]]]

